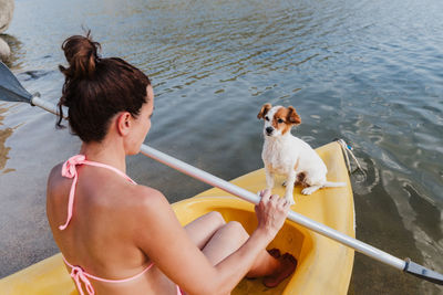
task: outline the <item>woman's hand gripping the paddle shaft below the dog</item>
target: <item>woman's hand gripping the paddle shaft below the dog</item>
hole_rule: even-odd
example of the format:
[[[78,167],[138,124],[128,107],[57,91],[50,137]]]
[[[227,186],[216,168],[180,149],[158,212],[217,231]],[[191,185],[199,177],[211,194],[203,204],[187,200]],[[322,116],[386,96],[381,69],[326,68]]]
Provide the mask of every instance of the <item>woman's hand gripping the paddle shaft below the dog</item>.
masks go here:
[[[261,200],[255,207],[258,219],[257,230],[264,231],[271,241],[284,225],[290,203],[285,198],[270,194],[268,189],[260,191],[259,197]]]

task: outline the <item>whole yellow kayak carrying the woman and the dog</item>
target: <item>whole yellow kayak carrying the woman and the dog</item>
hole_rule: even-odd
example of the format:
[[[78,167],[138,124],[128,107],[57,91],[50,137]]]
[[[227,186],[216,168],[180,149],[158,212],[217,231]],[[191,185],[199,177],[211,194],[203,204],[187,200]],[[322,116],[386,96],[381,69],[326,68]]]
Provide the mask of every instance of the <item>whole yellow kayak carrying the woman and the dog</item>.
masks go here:
[[[343,188],[320,189],[311,196],[300,194],[295,188],[296,204],[292,210],[354,238],[354,210],[352,188],[348,170],[337,143],[322,146],[317,152],[328,167],[328,180],[347,182]],[[285,194],[276,179],[274,193]],[[264,169],[250,172],[230,181],[249,191],[257,192],[266,187]],[[225,220],[236,220],[250,233],[257,225],[254,206],[219,189],[210,189],[200,194],[173,204],[182,224],[199,215],[218,211]],[[298,260],[296,272],[276,288],[267,288],[260,280],[244,280],[233,294],[347,294],[353,265],[354,251],[328,238],[309,231],[292,221],[287,221],[269,249],[278,247]],[[43,260],[16,274],[0,280],[2,295],[78,294],[68,274],[61,254]]]

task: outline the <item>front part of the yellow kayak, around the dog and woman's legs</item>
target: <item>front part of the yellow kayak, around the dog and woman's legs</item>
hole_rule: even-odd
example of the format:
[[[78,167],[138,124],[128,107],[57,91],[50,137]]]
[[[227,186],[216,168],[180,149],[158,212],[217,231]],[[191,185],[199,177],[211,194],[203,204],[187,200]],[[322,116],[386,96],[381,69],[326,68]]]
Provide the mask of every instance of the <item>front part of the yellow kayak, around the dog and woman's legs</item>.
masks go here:
[[[346,182],[347,187],[324,188],[310,196],[301,194],[301,186],[293,189],[296,204],[291,210],[340,231],[352,238],[356,236],[353,194],[344,165],[341,147],[337,143],[322,146],[316,151],[328,167],[329,181]],[[272,193],[285,194],[282,182],[286,179],[276,177],[276,187]],[[266,188],[265,169],[260,169],[230,181],[231,183],[258,192]],[[251,233],[257,226],[254,206],[235,197],[223,198],[227,193],[220,189],[210,189],[197,194],[195,198],[184,200],[187,210],[182,209],[177,202],[175,210],[182,223],[198,217],[186,215],[193,203],[199,203],[200,213],[219,211],[225,220],[241,222]],[[210,197],[210,198],[209,198]],[[198,200],[200,198],[200,201]],[[206,211],[203,208],[207,207]],[[233,294],[347,294],[351,278],[354,251],[309,231],[292,221],[286,221],[284,228],[270,243],[268,249],[277,247],[281,253],[289,252],[297,260],[298,265],[291,277],[287,278],[276,288],[267,288],[261,280],[243,280]]]

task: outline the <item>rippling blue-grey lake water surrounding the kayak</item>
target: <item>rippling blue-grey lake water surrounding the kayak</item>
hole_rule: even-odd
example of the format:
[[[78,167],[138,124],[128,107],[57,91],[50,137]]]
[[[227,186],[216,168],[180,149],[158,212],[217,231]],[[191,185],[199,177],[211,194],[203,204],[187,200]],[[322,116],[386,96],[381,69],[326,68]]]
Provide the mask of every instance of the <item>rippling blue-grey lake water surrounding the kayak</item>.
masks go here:
[[[224,179],[262,167],[264,103],[293,105],[313,147],[343,138],[357,238],[443,272],[443,3],[440,0],[17,0],[9,65],[56,102],[65,38],[90,28],[103,56],[147,73],[146,144]],[[79,140],[55,118],[0,103],[0,277],[54,254],[45,219],[51,167]],[[208,187],[144,156],[128,175],[171,202]],[[328,267],[328,266],[324,266]],[[443,288],[356,254],[349,294]]]

